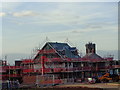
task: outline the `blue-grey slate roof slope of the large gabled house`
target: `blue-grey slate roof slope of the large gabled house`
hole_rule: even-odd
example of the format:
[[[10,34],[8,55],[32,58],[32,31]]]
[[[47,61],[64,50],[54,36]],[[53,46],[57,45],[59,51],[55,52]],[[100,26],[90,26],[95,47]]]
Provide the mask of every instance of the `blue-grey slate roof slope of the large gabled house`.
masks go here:
[[[79,58],[79,55],[74,55],[72,52],[76,51],[76,47],[70,47],[67,43],[58,42],[48,42],[61,56],[63,56],[61,51],[65,51],[65,56],[67,58]]]

